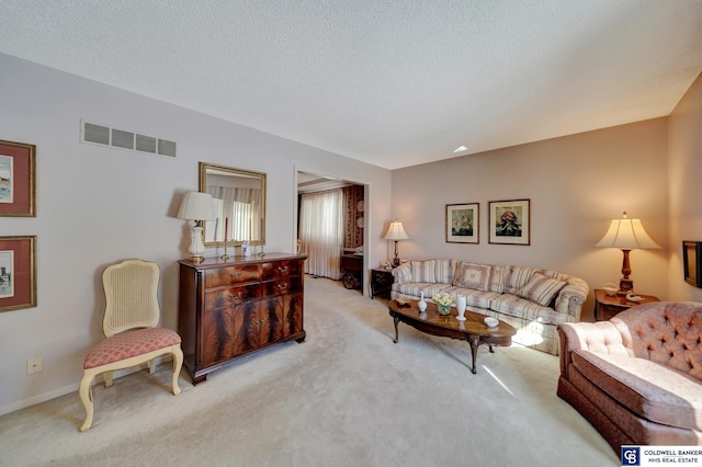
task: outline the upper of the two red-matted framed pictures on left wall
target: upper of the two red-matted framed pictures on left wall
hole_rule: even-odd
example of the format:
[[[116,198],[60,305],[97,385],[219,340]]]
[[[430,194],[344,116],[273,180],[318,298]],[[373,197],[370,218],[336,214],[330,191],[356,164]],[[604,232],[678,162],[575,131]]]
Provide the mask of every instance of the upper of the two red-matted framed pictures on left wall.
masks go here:
[[[35,217],[35,146],[0,140],[0,216]]]

